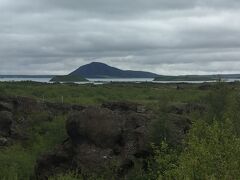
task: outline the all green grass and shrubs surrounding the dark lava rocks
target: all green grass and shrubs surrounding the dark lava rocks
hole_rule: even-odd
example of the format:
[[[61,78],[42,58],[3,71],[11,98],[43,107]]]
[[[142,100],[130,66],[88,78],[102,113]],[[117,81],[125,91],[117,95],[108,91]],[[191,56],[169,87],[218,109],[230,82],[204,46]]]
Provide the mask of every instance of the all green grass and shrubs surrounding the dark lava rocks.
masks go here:
[[[154,156],[145,169],[136,167],[127,179],[238,179],[240,177],[240,96],[238,83],[213,84],[206,90],[199,85],[157,84],[41,84],[31,82],[0,83],[1,95],[27,96],[39,101],[73,104],[100,104],[105,101],[132,101],[151,108],[159,119],[154,121],[152,146]],[[164,114],[169,103],[202,103],[204,114],[192,113],[192,128],[181,146],[168,142]],[[0,178],[33,177],[36,158],[66,137],[65,117],[51,122],[34,123],[24,144],[0,148]],[[46,132],[46,133],[42,133]],[[156,138],[159,136],[158,138]],[[158,141],[156,141],[158,140]],[[101,179],[90,175],[93,179]],[[94,178],[95,177],[95,178]],[[52,179],[81,179],[76,172]]]

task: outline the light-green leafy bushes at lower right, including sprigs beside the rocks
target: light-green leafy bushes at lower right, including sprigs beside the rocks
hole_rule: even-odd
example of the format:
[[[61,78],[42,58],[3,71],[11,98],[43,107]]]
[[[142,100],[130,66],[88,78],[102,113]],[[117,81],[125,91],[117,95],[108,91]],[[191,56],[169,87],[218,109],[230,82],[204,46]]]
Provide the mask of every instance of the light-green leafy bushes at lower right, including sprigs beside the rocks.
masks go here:
[[[210,125],[194,123],[179,153],[166,142],[153,146],[154,161],[148,179],[238,179],[240,177],[240,138],[228,119]],[[157,176],[157,177],[156,177]]]

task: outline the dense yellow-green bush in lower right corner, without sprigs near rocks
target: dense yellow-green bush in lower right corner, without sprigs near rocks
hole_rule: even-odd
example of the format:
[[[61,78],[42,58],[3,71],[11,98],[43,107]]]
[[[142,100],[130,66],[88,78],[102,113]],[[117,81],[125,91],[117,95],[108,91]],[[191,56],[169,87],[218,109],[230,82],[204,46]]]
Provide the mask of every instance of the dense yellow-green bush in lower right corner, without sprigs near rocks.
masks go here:
[[[238,179],[240,138],[232,129],[229,120],[211,125],[196,122],[172,173],[180,179]]]

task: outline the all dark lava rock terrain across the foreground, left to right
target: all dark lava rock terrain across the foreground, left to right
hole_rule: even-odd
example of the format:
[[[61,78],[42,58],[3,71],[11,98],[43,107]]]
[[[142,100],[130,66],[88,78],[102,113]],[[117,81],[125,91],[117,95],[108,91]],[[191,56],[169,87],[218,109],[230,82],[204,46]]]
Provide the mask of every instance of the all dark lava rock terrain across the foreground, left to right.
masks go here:
[[[168,105],[169,142],[177,145],[190,129],[185,116],[192,111],[204,111],[200,104],[175,103]],[[57,114],[67,115],[68,138],[51,152],[40,156],[35,165],[37,179],[68,171],[103,174],[111,171],[123,178],[151,155],[150,124],[156,115],[137,103],[103,103],[101,106],[79,106],[41,102],[25,97],[0,97],[0,148],[28,138],[26,127],[30,115],[46,112],[40,121],[51,121]]]

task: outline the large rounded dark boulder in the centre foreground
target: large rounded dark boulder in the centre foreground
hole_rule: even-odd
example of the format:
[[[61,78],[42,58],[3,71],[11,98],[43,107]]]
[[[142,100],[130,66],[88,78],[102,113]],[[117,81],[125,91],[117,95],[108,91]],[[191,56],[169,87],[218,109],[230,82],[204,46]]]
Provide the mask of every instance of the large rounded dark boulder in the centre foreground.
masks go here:
[[[91,142],[97,146],[111,147],[120,138],[121,118],[109,109],[90,107],[72,114],[66,128],[73,142]]]

